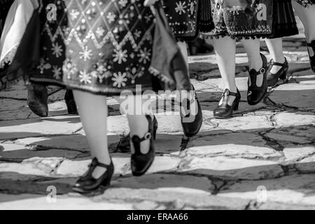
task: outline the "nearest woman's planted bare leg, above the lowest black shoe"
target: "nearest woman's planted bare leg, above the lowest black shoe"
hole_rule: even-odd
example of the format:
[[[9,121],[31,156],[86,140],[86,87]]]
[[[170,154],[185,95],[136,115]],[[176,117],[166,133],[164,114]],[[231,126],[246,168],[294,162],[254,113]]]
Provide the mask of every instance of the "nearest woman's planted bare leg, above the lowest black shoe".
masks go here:
[[[78,106],[78,113],[92,157],[97,158],[100,163],[105,165],[111,164],[107,141],[106,97],[78,90],[73,90],[73,96]],[[97,167],[92,176],[99,179],[104,172],[106,172],[106,168]]]

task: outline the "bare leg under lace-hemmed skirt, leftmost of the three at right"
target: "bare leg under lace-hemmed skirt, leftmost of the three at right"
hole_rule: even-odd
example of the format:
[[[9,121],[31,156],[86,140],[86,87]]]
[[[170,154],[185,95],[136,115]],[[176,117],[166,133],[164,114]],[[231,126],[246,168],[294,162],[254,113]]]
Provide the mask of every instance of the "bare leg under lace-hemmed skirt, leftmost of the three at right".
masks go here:
[[[237,92],[235,83],[235,40],[228,36],[214,39],[214,49],[216,50],[218,68],[223,80],[223,89],[228,89],[230,92]],[[234,101],[235,97],[230,96],[228,104],[231,106]],[[221,104],[222,102],[219,105]]]

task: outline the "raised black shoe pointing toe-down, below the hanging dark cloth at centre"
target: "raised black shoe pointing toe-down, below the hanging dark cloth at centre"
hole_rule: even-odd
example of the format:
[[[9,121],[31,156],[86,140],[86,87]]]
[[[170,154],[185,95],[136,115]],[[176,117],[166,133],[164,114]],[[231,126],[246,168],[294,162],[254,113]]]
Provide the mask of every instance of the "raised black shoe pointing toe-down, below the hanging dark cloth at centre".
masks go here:
[[[193,86],[193,85],[192,85]],[[195,87],[193,87],[193,90],[195,91]],[[200,131],[200,128],[202,127],[202,108],[200,106],[200,102],[198,101],[197,98],[197,93],[195,92],[195,103],[197,103],[197,115],[195,117],[191,117],[190,113],[188,113],[187,116],[183,117],[181,113],[181,126],[183,127],[183,132],[186,137],[191,138],[194,137],[198,132]],[[188,110],[190,110],[190,102],[188,101],[187,104]],[[193,122],[185,122],[185,118],[193,119]]]

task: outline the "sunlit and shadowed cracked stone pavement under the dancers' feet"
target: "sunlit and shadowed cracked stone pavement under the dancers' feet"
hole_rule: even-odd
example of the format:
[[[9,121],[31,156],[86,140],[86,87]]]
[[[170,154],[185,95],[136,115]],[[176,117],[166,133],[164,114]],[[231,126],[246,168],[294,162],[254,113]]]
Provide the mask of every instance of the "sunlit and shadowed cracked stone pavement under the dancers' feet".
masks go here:
[[[290,80],[248,106],[247,58],[238,45],[242,100],[228,120],[212,115],[222,92],[214,55],[190,57],[202,130],[179,153],[179,114],[159,114],[158,155],[140,178],[131,175],[129,153],[117,148],[128,127],[108,99],[116,171],[112,188],[97,197],[71,193],[90,154],[78,116],[66,114],[64,90],[50,87],[49,118],[29,111],[22,83],[1,91],[0,209],[315,209],[315,74],[302,39],[286,39],[284,46]],[[267,55],[265,45],[262,50]],[[47,198],[51,189],[56,202]]]

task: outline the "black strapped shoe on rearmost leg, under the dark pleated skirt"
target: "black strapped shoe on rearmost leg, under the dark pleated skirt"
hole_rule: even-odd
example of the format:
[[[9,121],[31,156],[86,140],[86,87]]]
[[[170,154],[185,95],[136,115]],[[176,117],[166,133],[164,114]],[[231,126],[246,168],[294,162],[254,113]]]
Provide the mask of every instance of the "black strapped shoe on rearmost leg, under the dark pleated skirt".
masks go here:
[[[284,58],[286,60],[286,57]],[[271,73],[270,70],[272,69],[272,66],[281,66],[281,69],[277,71],[276,73]],[[284,63],[278,63],[274,62],[272,59],[269,63],[269,69],[267,71],[267,84],[268,86],[274,86],[276,83],[278,83],[279,78],[282,80],[287,79],[287,74],[288,73],[288,61],[286,60]]]

